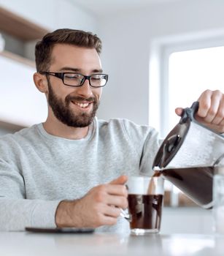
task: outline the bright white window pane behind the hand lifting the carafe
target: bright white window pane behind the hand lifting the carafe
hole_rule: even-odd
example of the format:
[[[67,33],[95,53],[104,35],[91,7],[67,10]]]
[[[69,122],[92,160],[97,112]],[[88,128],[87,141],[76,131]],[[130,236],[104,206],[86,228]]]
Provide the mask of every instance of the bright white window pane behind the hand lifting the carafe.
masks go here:
[[[224,89],[224,47],[185,50],[169,56],[169,124],[179,121],[174,109],[190,107],[202,91]]]

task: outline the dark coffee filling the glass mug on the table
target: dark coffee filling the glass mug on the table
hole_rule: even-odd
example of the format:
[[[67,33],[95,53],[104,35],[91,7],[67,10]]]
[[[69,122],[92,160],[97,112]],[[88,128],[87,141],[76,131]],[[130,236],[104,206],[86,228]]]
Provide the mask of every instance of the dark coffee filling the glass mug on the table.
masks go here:
[[[163,195],[128,195],[131,229],[157,229],[161,227]]]

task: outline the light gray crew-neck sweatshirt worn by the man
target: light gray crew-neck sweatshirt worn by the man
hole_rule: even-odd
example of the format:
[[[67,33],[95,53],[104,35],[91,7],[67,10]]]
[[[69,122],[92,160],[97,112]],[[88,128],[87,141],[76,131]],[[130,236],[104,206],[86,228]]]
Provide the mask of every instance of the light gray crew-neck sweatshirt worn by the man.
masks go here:
[[[42,124],[0,139],[0,230],[55,227],[61,200],[83,197],[92,187],[118,176],[152,173],[158,150],[155,129],[126,119],[94,119],[88,135],[69,140],[48,134]],[[128,230],[118,218],[114,226]]]

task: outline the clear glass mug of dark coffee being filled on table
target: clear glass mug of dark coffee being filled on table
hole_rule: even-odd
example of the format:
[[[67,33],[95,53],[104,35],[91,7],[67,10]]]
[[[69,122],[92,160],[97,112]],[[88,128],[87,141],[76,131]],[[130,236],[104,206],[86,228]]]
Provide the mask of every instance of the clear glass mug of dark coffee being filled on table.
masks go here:
[[[125,184],[128,189],[128,209],[121,216],[130,222],[131,233],[143,235],[158,233],[163,208],[163,178],[131,176]]]

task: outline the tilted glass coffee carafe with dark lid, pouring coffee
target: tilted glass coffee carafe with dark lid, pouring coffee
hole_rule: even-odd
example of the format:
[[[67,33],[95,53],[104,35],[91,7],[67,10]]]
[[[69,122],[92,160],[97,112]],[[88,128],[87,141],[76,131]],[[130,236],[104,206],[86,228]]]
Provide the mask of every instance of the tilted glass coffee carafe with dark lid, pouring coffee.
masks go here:
[[[156,154],[153,170],[204,208],[212,208],[215,168],[224,166],[224,136],[194,118],[198,102],[185,108]]]

